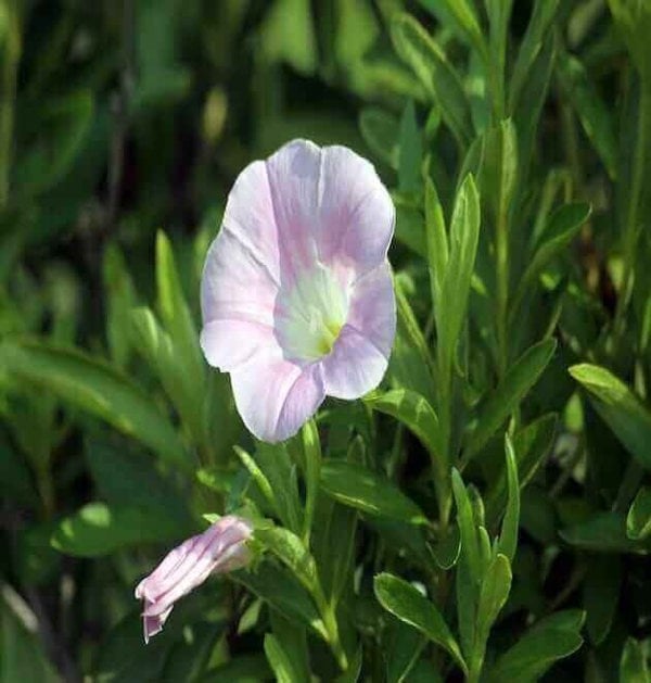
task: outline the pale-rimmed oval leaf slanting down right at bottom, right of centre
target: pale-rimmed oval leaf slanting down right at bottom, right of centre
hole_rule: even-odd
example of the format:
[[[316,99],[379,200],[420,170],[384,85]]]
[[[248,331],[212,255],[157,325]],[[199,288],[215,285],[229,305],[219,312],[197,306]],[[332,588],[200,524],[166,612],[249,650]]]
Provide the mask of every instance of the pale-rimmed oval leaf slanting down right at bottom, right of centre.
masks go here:
[[[378,574],[373,587],[375,597],[384,609],[443,647],[462,671],[467,672],[459,645],[434,603],[421,595],[410,583],[393,574]]]

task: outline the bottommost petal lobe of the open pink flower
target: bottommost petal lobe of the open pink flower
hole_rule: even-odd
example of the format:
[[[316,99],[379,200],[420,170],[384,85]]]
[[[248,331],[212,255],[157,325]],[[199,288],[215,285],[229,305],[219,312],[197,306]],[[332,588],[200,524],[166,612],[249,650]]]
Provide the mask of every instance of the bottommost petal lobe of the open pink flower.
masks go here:
[[[295,434],[326,397],[319,364],[302,366],[279,355],[257,354],[231,381],[247,429],[270,443]]]

